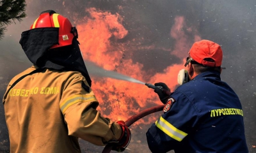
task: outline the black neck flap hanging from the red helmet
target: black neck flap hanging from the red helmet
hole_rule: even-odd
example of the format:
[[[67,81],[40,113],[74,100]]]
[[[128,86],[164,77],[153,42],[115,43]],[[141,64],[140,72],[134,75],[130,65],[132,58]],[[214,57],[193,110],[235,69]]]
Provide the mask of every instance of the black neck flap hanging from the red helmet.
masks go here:
[[[84,64],[77,36],[73,38],[72,45],[51,48],[58,44],[58,36],[58,27],[35,28],[24,31],[19,43],[29,61],[39,68],[79,71],[91,87],[92,80]]]

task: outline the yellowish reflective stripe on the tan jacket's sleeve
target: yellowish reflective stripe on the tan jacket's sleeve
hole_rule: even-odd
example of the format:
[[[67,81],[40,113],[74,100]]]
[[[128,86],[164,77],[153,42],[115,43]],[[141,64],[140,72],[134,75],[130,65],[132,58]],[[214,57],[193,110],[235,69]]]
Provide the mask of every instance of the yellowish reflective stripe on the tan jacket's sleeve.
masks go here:
[[[61,103],[60,105],[60,109],[61,109],[61,112],[64,113],[69,106],[75,103],[79,103],[79,102],[88,103],[92,101],[97,101],[95,96],[92,94],[88,94],[88,95],[76,94],[75,96],[72,96],[66,99],[65,101],[63,101],[63,103]]]

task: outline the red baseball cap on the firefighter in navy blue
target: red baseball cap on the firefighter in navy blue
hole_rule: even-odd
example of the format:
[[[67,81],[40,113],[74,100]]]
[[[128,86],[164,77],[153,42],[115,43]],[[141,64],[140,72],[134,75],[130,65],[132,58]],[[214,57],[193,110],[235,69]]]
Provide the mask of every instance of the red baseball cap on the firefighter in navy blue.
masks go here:
[[[210,40],[201,40],[195,42],[188,54],[194,61],[198,62],[199,64],[203,64],[204,66],[221,66],[223,56],[221,47],[218,43],[214,43]],[[214,62],[206,61],[206,58],[213,59]]]

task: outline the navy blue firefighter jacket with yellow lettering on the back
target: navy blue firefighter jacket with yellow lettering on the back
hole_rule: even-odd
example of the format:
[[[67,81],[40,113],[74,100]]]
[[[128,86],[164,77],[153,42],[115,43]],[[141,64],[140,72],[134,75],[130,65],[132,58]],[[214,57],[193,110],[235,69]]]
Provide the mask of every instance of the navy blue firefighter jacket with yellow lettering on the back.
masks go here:
[[[248,152],[241,103],[220,73],[201,73],[170,98],[147,131],[152,152]]]

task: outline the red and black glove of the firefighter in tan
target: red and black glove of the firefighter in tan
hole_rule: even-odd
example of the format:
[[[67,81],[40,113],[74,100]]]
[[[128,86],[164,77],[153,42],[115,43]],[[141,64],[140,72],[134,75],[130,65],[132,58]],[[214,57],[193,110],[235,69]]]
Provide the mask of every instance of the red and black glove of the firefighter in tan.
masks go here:
[[[119,126],[121,127],[122,134],[120,138],[117,140],[118,141],[117,143],[112,143],[113,147],[111,150],[115,150],[117,152],[123,152],[131,141],[131,131],[125,125],[125,122],[123,120],[119,120],[116,123],[119,124]]]

